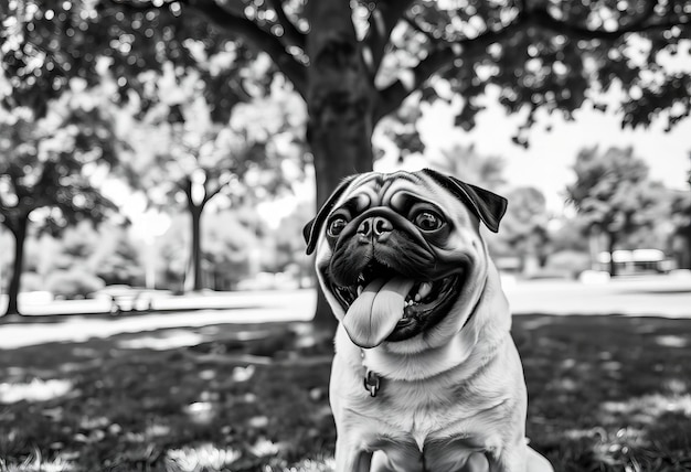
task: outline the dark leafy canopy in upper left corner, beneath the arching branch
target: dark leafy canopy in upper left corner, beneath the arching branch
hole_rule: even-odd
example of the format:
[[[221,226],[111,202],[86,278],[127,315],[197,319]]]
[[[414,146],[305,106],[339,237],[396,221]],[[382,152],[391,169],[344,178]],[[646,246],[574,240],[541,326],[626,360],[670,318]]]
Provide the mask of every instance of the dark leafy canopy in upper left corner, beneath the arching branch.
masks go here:
[[[213,115],[226,120],[233,106],[249,97],[241,71],[256,54],[242,41],[227,41],[208,21],[182,17],[179,3],[160,10],[141,7],[110,0],[67,0],[51,8],[38,1],[9,2],[0,40],[3,76],[12,89],[3,94],[3,105],[28,106],[42,115],[71,77],[84,77],[93,86],[104,69],[117,77],[123,104],[132,98],[128,90],[146,101],[150,83],[142,73],[172,62],[182,73],[194,68],[201,74],[210,85],[205,93],[212,94]],[[262,87],[261,82],[252,85]]]

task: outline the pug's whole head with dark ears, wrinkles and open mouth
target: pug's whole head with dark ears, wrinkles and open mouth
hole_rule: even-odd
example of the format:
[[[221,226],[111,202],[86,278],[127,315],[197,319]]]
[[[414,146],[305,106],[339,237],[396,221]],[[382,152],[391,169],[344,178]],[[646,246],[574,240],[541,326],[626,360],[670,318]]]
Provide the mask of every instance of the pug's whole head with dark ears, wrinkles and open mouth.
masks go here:
[[[421,351],[455,335],[487,276],[479,222],[497,232],[506,206],[430,170],[370,172],[341,184],[305,237],[352,342]]]

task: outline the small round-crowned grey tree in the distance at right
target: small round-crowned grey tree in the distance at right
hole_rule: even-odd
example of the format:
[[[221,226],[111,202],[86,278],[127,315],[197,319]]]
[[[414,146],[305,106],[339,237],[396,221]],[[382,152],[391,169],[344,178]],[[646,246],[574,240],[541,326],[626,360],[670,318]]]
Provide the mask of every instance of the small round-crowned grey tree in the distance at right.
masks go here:
[[[612,254],[621,235],[649,227],[657,221],[667,194],[648,179],[648,167],[634,155],[632,148],[585,149],[574,164],[576,181],[566,189],[567,199],[587,219],[591,235],[607,236],[609,272],[616,275]]]

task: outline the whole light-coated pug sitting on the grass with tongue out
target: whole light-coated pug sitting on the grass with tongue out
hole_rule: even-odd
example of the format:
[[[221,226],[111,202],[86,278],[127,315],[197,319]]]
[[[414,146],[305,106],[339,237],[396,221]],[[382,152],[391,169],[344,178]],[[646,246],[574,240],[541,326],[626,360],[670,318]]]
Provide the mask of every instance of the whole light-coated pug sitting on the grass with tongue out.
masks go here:
[[[551,472],[525,440],[511,314],[480,236],[506,199],[436,171],[351,176],[305,227],[339,320],[337,472]]]

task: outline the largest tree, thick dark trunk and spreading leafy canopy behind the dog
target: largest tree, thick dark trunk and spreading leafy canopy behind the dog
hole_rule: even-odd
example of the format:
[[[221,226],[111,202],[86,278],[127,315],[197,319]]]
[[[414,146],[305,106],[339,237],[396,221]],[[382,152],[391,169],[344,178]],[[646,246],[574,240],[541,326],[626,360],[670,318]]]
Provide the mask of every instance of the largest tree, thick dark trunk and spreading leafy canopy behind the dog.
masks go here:
[[[127,97],[142,89],[142,69],[199,65],[231,47],[230,66],[204,69],[210,103],[228,114],[248,93],[242,69],[268,56],[265,75],[280,72],[307,104],[319,205],[344,175],[372,169],[374,127],[411,96],[461,96],[457,125],[468,129],[496,86],[507,110],[525,112],[520,144],[538,110],[605,109],[597,94],[617,87],[624,125],[662,115],[673,126],[689,114],[691,77],[688,64],[667,69],[661,53],[687,53],[690,21],[685,0],[96,0],[50,13],[34,0],[3,22],[13,33],[6,103],[40,107],[65,76],[94,77],[102,56]]]

